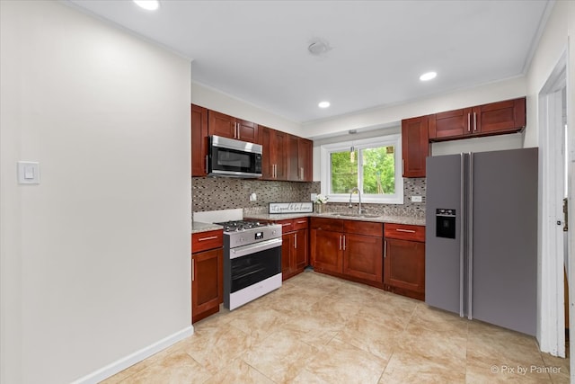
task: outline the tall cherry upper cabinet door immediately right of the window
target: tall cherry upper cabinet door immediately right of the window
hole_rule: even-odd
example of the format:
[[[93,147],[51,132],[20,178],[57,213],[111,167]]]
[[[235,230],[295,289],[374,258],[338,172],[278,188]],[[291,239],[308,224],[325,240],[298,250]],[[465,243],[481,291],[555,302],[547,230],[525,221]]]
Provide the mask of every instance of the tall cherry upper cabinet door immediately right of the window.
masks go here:
[[[402,121],[403,177],[425,177],[429,155],[428,117]]]

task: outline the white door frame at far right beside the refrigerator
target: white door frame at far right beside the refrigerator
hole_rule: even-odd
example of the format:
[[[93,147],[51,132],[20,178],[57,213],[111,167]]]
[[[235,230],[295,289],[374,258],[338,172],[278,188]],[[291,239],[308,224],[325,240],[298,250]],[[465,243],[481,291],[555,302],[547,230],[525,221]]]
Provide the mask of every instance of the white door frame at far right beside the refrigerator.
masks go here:
[[[564,143],[562,128],[562,88],[567,85],[567,51],[564,50],[551,75],[547,78],[538,97],[539,122],[539,174],[541,230],[539,231],[539,322],[537,339],[542,352],[565,357],[565,311],[563,265],[564,236],[558,233],[557,221],[562,220],[559,212],[562,204],[558,196],[563,195],[564,173],[556,172],[558,162],[563,161],[569,143]],[[571,189],[570,189],[571,197]],[[571,238],[571,230],[567,232]],[[562,234],[561,234],[562,235]],[[568,259],[571,253],[568,251]],[[571,263],[570,263],[571,264]],[[572,287],[570,286],[570,290]],[[571,302],[572,302],[572,295]],[[570,303],[571,305],[571,303]],[[572,316],[570,317],[572,318]],[[571,329],[571,327],[570,327]],[[572,355],[572,353],[571,353]]]

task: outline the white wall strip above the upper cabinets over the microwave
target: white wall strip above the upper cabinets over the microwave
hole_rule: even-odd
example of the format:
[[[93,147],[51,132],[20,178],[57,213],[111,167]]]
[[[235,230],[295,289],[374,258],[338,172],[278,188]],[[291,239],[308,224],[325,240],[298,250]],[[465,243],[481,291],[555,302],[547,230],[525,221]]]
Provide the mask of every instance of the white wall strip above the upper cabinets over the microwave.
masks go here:
[[[229,94],[224,94],[206,85],[192,82],[191,102],[239,119],[252,121],[266,127],[305,137],[301,131],[301,125],[296,121],[282,118],[256,105],[244,102],[243,100],[237,99]]]

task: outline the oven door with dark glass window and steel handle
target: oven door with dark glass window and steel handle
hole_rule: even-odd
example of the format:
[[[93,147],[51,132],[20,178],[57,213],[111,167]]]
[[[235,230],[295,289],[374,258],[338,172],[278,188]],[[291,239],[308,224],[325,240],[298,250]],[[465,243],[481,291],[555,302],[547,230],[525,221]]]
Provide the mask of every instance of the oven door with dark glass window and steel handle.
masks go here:
[[[281,273],[281,237],[230,249],[230,293]]]

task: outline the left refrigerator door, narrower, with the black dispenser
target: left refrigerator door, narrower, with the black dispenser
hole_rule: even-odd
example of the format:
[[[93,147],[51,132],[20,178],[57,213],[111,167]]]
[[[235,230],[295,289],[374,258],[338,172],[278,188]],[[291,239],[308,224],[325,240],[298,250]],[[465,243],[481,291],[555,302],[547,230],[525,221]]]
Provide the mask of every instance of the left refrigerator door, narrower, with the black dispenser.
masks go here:
[[[464,155],[427,158],[425,302],[464,315]],[[438,227],[448,220],[438,210],[455,210],[455,238]]]

